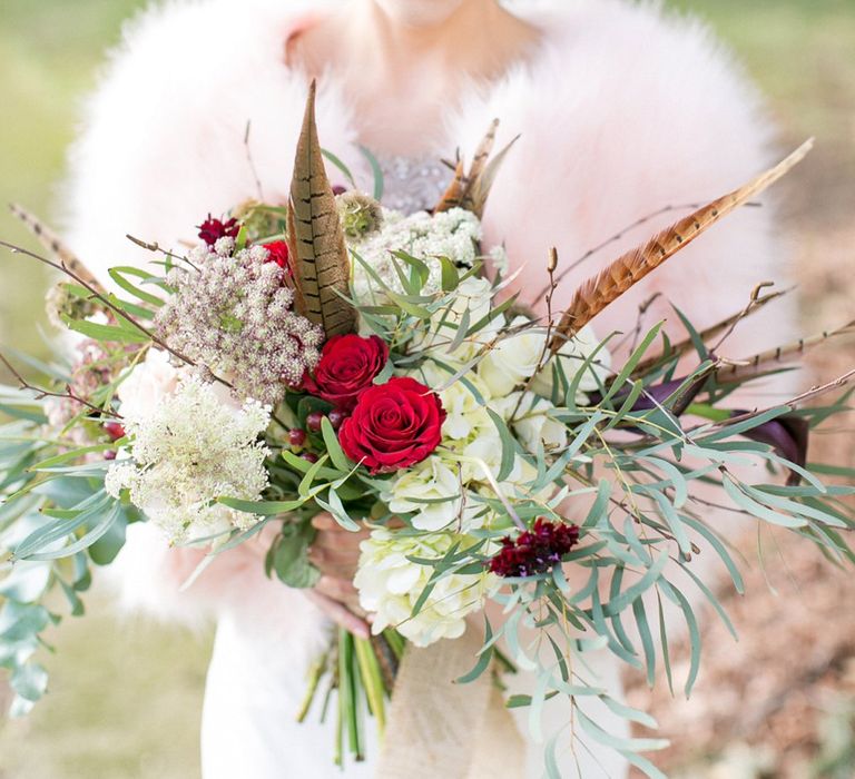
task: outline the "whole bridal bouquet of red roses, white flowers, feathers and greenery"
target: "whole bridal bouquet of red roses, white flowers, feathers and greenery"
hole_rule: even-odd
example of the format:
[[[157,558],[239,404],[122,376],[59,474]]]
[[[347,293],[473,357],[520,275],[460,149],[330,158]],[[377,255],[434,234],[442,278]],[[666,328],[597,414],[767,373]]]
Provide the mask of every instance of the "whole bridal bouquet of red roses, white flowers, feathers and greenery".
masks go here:
[[[530,694],[508,706],[530,707],[535,733],[544,702],[563,696],[568,723],[661,776],[639,753],[661,741],[616,738],[578,707],[598,697],[653,724],[588,681],[584,653],[608,648],[651,682],[661,660],[672,683],[665,613],[676,609],[691,690],[701,639],[685,590],[728,622],[692,560],[719,556],[741,589],[710,509],[854,559],[842,499],[855,490],[825,483],[838,469],[806,464],[809,427],[846,397],[804,407],[848,376],[773,407],[728,404],[813,343],[719,356],[776,294],[758,288],[704,332],[680,313],[685,341],[660,323],[620,361],[619,334],[589,324],[806,149],[618,258],[553,315],[554,284],[546,314],[525,308],[502,247],[483,246],[479,217],[508,151],[491,157],[492,142],[491,131],[472,166],[458,165],[433,211],[403,215],[380,205],[380,179],[374,197],[333,191],[309,100],[291,203],[208,217],[185,255],[148,246],[156,270],[111,269],[117,292],[50,237],[57,258],[32,255],[67,274],[49,306],[79,342],[68,367],[29,361],[55,376],[46,387],[2,357],[21,384],[2,392],[12,418],[0,443],[0,664],[16,711],[47,686],[33,655],[62,613],[52,593],[82,613],[90,564],[114,560],[129,523],[154,523],[208,560],[266,527],[268,575],[311,588],[311,520],[326,511],[370,530],[354,583],[374,635],[340,631],[295,712],[326,689],[338,762],[364,753],[365,711],[382,729],[399,663],[481,631],[460,681],[532,672]],[[553,253],[553,282],[559,266]],[[561,737],[546,745],[552,776]]]

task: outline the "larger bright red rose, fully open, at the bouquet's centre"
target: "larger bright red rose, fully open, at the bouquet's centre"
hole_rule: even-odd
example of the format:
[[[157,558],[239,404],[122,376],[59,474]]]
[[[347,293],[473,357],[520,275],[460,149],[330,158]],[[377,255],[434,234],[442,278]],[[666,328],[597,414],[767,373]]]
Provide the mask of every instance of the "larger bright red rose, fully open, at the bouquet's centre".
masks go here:
[[[338,442],[372,474],[391,473],[426,460],[440,444],[444,421],[436,393],[414,378],[395,377],[362,392]]]

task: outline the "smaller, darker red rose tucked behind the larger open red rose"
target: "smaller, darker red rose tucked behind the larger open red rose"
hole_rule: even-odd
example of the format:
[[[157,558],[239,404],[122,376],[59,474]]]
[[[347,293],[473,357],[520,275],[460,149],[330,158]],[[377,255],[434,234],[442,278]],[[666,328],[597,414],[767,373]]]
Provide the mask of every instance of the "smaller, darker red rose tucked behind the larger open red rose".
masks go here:
[[[305,387],[336,408],[351,411],[387,359],[389,346],[376,335],[335,335],[324,344],[314,378],[307,377]]]

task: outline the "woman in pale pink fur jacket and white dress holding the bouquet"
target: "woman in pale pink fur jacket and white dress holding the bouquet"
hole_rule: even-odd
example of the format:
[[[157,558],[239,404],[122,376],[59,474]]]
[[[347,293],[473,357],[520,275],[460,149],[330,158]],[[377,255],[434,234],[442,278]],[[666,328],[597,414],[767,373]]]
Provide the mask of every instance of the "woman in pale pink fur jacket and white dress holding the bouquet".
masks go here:
[[[494,117],[499,144],[520,136],[492,191],[484,231],[488,244],[504,241],[512,266],[525,266],[517,284],[534,307],[551,246],[567,267],[640,217],[674,209],[566,274],[560,306],[618,250],[685,213],[679,206],[720,195],[769,161],[769,128],[754,90],[702,27],[658,6],[171,2],[128,27],[88,105],[69,185],[72,247],[105,276],[111,265],[153,259],[127,233],[180,248],[195,238],[187,226],[208,213],[259,193],[284,203],[312,78],[322,144],[365,188],[371,170],[360,146],[370,148],[392,208],[435,203],[449,179],[439,160],[458,148],[471,159]],[[332,166],[330,175],[346,184]],[[690,309],[697,325],[734,313],[745,300],[730,288],[747,290],[784,274],[773,227],[768,209],[737,214],[637,285],[620,319],[607,310],[598,332],[626,329],[637,306],[659,292]],[[780,307],[764,312],[729,342],[731,349],[757,351],[764,333],[785,339],[788,316]],[[646,317],[675,319],[666,295]],[[343,605],[353,595],[353,540],[323,520],[321,526],[314,558],[326,575],[311,600],[264,578],[262,542],[222,555],[181,590],[198,554],[167,550],[149,527],[131,527],[122,552],[126,600],[160,615],[197,620],[207,612],[217,620],[203,716],[206,779],[340,773],[327,728],[314,717],[294,722],[330,618],[366,629]],[[592,670],[599,684],[619,690],[615,661],[594,657]],[[549,717],[558,726],[562,714]],[[524,717],[519,727],[524,733]],[[584,743],[572,753],[569,736],[562,743],[562,776],[626,776],[619,756]],[[376,751],[346,776],[372,776]],[[542,773],[541,751],[542,745],[529,746],[529,776]],[[433,776],[413,760],[413,776]],[[483,773],[473,768],[465,776]]]

